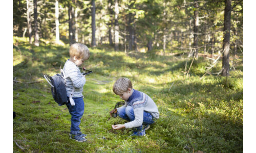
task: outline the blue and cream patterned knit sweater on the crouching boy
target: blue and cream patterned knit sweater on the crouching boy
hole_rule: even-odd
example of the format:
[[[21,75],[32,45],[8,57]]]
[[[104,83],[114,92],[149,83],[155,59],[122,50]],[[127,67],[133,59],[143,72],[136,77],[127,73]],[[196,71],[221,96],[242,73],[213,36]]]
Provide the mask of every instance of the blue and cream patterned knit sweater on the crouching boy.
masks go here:
[[[143,92],[133,89],[133,94],[125,101],[125,105],[122,107],[126,107],[127,105],[133,107],[135,119],[124,123],[126,129],[142,125],[144,111],[150,112],[156,119],[159,118],[159,112],[155,102]]]

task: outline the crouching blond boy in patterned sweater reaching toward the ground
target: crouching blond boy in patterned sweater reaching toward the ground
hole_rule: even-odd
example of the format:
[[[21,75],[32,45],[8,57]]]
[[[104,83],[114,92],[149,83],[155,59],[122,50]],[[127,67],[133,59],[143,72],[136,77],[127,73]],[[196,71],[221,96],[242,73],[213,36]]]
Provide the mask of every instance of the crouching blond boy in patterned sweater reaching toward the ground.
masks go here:
[[[129,122],[112,125],[112,128],[133,128],[132,136],[144,136],[150,124],[159,118],[155,102],[145,93],[133,89],[132,82],[127,78],[119,78],[113,86],[113,92],[125,101],[124,106],[117,108],[118,116]]]

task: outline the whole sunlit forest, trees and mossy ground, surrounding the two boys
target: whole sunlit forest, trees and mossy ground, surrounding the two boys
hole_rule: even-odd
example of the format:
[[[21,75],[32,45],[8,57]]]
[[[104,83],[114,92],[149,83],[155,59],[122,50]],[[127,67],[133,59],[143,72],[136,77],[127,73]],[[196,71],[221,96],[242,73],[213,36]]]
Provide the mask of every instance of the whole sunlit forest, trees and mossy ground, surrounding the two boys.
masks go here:
[[[13,152],[242,152],[243,38],[242,0],[13,0]],[[83,143],[44,79],[77,42]],[[145,137],[111,127],[120,77],[158,107]]]

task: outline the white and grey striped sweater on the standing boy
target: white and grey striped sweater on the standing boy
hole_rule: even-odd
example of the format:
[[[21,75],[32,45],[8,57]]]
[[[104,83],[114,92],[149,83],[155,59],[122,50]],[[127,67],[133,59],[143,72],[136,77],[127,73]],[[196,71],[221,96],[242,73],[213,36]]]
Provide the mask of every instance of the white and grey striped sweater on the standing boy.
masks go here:
[[[69,96],[73,87],[75,87],[73,97],[82,97],[83,85],[86,83],[86,78],[81,74],[79,67],[68,59],[63,67],[63,71],[66,77],[67,95]]]

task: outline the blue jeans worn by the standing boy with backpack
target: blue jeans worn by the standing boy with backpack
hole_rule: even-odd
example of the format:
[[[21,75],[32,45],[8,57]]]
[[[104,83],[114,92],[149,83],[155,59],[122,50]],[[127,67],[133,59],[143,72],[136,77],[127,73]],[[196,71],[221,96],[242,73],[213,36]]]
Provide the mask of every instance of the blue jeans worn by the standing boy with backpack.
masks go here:
[[[75,106],[71,106],[70,102],[67,103],[66,105],[71,115],[70,133],[76,135],[81,131],[81,129],[79,128],[79,125],[84,112],[84,103],[83,103],[82,97],[73,98],[73,99],[75,101]]]

